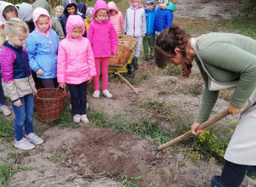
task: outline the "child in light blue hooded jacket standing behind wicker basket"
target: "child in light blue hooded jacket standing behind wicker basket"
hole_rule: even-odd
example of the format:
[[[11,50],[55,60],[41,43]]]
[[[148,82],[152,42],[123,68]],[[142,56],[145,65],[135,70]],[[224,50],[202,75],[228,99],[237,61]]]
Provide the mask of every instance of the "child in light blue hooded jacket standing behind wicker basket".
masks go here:
[[[36,72],[45,88],[56,88],[57,52],[60,42],[56,32],[51,30],[51,19],[44,8],[36,8],[32,15],[35,31],[26,40],[29,65]]]

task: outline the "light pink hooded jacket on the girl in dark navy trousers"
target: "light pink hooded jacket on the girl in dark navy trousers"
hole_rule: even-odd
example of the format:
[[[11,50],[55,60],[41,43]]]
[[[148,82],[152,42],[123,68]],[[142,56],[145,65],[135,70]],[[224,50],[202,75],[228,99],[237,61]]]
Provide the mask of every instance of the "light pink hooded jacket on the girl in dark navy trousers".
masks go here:
[[[96,76],[95,60],[90,42],[85,37],[73,39],[72,31],[76,26],[83,29],[84,20],[80,15],[69,15],[67,19],[67,37],[60,42],[57,60],[58,82],[80,84]]]

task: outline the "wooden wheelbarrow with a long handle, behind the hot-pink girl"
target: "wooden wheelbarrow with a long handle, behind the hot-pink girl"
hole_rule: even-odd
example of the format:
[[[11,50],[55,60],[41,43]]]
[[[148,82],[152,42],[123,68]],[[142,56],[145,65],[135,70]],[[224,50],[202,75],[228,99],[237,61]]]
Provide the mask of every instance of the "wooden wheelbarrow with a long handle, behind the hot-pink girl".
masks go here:
[[[127,73],[128,75],[134,76],[136,65],[131,60],[134,50],[137,46],[137,39],[126,35],[120,35],[118,38],[118,51],[115,57],[109,59],[108,73],[116,74],[132,92],[138,94],[137,90],[132,87],[131,83],[128,82],[125,77],[120,73]]]

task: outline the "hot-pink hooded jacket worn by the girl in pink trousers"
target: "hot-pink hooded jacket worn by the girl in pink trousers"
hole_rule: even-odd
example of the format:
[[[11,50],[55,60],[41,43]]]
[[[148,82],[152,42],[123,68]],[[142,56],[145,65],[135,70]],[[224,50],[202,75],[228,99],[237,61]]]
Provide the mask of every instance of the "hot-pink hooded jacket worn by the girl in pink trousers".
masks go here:
[[[95,57],[110,58],[111,54],[117,53],[118,38],[113,25],[108,20],[103,20],[100,23],[95,19],[96,11],[99,9],[107,9],[108,17],[110,15],[107,3],[103,0],[97,0],[93,11],[94,20],[90,23],[87,38]]]

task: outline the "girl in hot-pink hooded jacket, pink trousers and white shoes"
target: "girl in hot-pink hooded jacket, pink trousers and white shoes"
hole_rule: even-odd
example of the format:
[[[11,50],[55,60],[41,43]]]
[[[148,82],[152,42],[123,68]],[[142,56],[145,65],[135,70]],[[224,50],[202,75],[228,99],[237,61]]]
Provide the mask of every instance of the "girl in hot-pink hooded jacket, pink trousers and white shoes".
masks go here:
[[[105,1],[97,0],[93,12],[93,21],[90,24],[87,38],[95,56],[96,76],[94,77],[94,98],[100,97],[100,74],[102,62],[102,94],[112,98],[108,92],[108,64],[111,56],[116,56],[118,38],[113,25],[109,22],[109,10]]]

